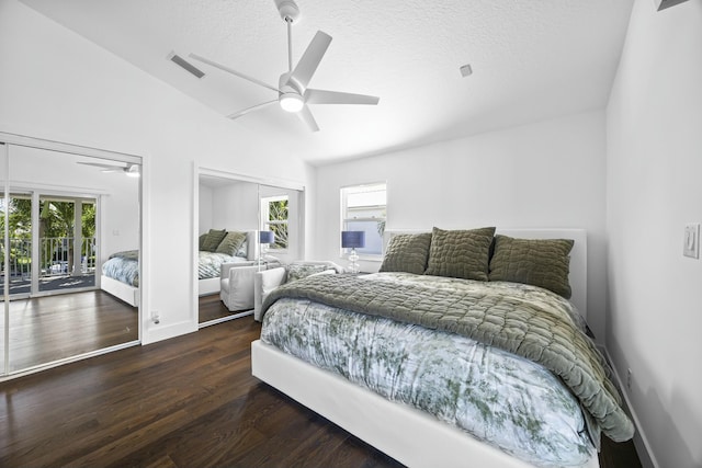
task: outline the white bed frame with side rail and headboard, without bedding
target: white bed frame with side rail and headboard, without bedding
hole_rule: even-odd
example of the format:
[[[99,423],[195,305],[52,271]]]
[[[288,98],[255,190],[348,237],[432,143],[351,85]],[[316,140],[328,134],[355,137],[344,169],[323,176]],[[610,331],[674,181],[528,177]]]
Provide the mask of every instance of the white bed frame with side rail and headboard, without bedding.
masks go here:
[[[392,231],[419,232],[419,231]],[[427,232],[424,230],[423,232]],[[570,253],[573,303],[587,313],[587,233],[582,229],[499,229],[498,233],[530,239],[574,239]],[[251,343],[254,377],[321,414],[373,447],[409,467],[533,468],[406,404],[351,384],[294,356]],[[595,450],[593,450],[595,452]],[[593,456],[585,468],[599,467]]]

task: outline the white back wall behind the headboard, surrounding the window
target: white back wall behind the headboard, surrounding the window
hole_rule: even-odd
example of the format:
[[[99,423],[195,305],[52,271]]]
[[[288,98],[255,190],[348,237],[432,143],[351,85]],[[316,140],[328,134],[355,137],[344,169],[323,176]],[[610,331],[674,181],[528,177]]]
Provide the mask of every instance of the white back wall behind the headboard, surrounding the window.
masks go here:
[[[339,189],[367,182],[387,181],[387,229],[585,228],[588,322],[603,342],[604,158],[604,113],[591,112],[321,167],[314,255],[339,260]]]

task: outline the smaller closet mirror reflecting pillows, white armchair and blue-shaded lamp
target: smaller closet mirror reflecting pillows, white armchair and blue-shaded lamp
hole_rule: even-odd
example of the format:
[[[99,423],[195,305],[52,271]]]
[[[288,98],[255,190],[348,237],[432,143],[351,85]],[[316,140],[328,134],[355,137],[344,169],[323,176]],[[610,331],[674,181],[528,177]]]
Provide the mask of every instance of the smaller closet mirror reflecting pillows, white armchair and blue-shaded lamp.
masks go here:
[[[301,190],[200,174],[200,327],[251,315],[254,273],[302,256],[302,204]],[[260,231],[272,231],[274,242],[261,244]],[[225,252],[227,238],[219,241],[225,247],[215,246],[224,232],[246,238],[234,259],[222,258],[231,253]]]

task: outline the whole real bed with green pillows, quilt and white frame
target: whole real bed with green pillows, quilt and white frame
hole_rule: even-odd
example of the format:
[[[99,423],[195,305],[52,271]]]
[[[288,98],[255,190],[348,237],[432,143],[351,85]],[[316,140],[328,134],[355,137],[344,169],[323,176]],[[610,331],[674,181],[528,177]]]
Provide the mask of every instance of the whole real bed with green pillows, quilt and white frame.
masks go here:
[[[253,375],[407,466],[599,466],[600,431],[622,441],[633,424],[578,312],[586,233],[492,235],[405,233],[381,273],[275,289],[252,343]],[[524,274],[544,246],[557,261]],[[559,269],[566,284],[551,277]]]

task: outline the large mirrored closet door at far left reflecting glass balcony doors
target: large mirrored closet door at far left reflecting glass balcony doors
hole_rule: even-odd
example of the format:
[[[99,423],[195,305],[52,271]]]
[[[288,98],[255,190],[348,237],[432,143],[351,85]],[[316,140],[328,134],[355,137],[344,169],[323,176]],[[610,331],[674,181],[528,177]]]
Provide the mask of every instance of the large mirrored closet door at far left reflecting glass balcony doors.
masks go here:
[[[138,343],[140,158],[0,137],[0,376]]]

